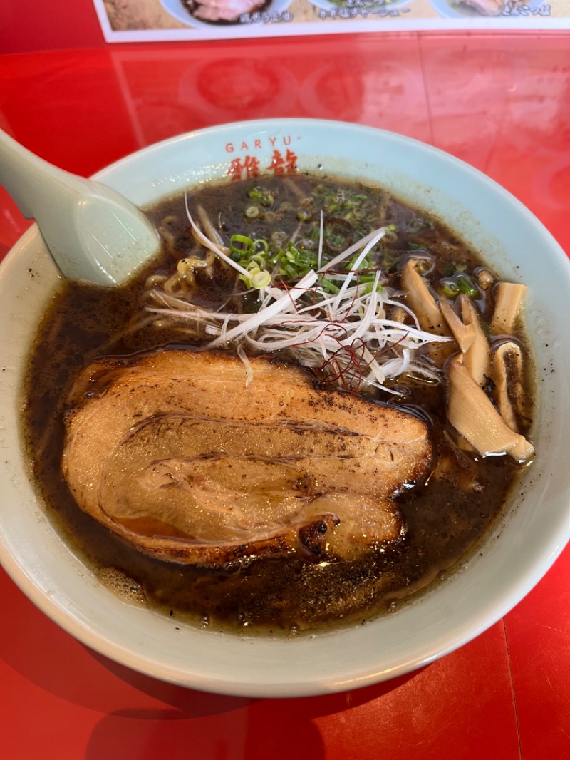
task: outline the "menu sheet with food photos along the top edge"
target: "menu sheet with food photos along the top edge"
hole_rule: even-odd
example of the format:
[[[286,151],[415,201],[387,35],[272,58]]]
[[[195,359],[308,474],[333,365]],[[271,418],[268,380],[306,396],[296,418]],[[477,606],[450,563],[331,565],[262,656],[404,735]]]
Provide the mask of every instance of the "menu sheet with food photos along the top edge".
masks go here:
[[[93,0],[107,42],[568,29],[570,0]]]

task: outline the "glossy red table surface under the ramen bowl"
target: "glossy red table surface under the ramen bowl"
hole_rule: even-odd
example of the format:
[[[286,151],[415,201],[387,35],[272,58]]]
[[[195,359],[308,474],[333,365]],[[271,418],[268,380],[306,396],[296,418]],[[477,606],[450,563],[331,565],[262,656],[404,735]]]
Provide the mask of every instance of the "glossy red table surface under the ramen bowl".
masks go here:
[[[0,128],[79,174],[184,131],[276,116],[342,119],[447,150],[570,252],[570,33],[0,55]],[[0,255],[28,224],[0,188]],[[569,577],[567,548],[505,619],[409,676],[256,700],[170,686],[94,654],[0,571],[0,758],[570,758]]]

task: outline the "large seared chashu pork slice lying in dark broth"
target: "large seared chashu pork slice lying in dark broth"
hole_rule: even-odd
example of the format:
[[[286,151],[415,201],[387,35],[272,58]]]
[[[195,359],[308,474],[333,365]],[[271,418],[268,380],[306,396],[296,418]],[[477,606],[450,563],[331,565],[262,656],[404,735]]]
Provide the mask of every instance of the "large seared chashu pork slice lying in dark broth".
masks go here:
[[[423,480],[426,424],[296,366],[163,350],[88,366],[71,391],[62,467],[78,503],[144,553],[221,564],[299,551],[353,558],[404,527],[393,498]]]

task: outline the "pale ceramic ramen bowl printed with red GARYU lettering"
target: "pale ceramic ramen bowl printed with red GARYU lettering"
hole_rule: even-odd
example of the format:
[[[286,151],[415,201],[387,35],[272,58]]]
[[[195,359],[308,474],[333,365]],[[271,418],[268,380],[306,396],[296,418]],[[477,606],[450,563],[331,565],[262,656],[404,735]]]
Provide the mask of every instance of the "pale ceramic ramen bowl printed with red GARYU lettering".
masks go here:
[[[59,277],[34,227],[0,267],[0,559],[41,610],[119,663],[206,691],[300,696],[389,679],[458,648],[515,606],[562,551],[570,534],[570,350],[561,315],[570,301],[570,265],[529,211],[470,166],[416,141],[340,122],[280,119],[198,131],[129,156],[97,179],[146,205],[222,178],[233,160],[245,166],[249,156],[250,165],[257,158],[269,166],[274,150],[283,157],[292,151],[301,169],[392,188],[444,218],[502,276],[530,286],[527,325],[540,372],[537,458],[505,518],[434,591],[369,625],[314,638],[221,635],[125,603],[59,539],[21,451],[21,379]]]

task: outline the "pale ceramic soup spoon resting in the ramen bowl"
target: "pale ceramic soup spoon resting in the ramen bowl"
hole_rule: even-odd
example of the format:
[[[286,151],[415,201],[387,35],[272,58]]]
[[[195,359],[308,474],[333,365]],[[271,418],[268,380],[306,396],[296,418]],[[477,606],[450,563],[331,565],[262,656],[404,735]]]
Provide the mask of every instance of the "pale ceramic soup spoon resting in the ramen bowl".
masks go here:
[[[115,285],[157,254],[157,230],[119,193],[57,169],[0,130],[0,184],[35,219],[62,274]]]

